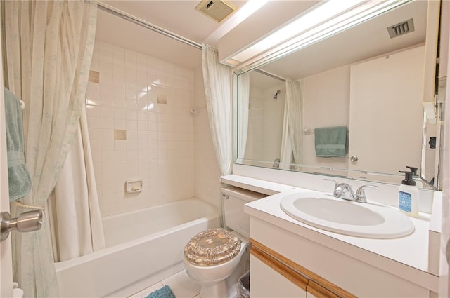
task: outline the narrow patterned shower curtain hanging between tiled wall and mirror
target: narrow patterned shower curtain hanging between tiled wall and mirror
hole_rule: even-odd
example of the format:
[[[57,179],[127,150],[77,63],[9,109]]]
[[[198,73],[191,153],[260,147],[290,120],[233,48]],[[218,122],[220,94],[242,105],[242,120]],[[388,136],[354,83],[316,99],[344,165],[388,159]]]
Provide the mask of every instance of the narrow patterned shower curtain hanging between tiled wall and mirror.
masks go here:
[[[206,107],[221,175],[231,171],[231,67],[221,65],[217,50],[203,45]]]

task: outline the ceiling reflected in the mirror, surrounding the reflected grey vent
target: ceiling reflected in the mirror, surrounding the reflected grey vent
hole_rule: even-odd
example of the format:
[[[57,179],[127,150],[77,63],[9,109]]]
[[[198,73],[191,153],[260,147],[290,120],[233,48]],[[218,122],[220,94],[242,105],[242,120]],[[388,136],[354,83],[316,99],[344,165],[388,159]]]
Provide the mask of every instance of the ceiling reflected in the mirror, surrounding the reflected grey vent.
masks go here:
[[[283,78],[300,79],[417,46],[425,43],[427,11],[427,1],[411,1],[260,68]],[[410,18],[413,18],[414,31],[390,39],[387,27]],[[251,78],[252,85],[259,88],[283,83],[255,72],[251,72]]]

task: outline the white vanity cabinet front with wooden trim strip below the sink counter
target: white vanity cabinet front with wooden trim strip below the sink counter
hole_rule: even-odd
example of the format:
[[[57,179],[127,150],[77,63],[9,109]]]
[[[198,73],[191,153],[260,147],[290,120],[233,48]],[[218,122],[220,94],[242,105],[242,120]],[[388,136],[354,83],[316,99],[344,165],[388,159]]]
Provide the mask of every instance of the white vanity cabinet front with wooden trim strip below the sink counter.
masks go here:
[[[391,272],[374,254],[364,262],[345,243],[324,245],[304,234],[250,217],[252,297],[430,297],[409,272]],[[347,249],[347,250],[346,250]],[[346,253],[347,252],[347,253]],[[352,251],[353,252],[353,251]],[[279,293],[279,294],[277,294]]]

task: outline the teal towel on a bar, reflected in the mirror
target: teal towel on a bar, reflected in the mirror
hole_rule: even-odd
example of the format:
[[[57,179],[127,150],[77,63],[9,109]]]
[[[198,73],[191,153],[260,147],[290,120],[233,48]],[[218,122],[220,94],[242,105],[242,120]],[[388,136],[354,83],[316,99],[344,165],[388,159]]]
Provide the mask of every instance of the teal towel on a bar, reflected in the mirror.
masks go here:
[[[347,126],[314,129],[316,156],[345,157],[348,151]]]

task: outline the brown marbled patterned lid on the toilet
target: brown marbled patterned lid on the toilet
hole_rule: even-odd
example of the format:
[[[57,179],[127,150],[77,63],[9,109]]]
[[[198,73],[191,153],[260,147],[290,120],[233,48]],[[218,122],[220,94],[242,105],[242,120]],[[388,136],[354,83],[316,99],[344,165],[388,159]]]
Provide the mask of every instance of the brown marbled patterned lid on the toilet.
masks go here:
[[[228,262],[240,251],[240,240],[225,229],[209,229],[193,236],[184,247],[186,259],[196,266]]]

